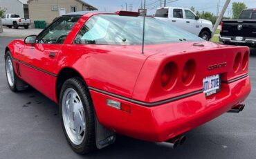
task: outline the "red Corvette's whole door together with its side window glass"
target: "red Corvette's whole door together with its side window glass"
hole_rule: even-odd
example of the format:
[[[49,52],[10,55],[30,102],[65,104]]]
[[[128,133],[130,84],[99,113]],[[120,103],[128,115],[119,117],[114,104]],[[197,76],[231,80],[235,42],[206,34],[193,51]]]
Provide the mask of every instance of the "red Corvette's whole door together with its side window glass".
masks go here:
[[[57,56],[68,33],[80,17],[65,16],[37,36],[35,44],[24,44],[21,53],[21,78],[53,99],[57,79]]]

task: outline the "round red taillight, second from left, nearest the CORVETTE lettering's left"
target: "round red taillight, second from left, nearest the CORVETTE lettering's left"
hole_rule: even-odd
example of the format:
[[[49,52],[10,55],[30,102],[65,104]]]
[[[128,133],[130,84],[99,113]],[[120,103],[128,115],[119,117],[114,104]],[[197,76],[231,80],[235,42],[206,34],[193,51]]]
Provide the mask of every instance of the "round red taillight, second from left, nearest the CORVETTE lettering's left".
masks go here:
[[[194,62],[194,59],[190,59],[188,60],[188,62],[186,62],[182,71],[181,79],[183,84],[190,85],[194,80],[195,75],[196,75],[196,62]]]

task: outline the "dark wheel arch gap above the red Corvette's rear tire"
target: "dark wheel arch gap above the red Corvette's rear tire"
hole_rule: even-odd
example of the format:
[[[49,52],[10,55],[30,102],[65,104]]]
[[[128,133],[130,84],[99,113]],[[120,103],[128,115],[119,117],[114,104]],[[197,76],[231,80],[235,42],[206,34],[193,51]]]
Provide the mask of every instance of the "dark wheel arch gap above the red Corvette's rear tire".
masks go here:
[[[55,84],[55,95],[57,98],[57,102],[59,102],[59,99],[60,99],[60,91],[62,90],[62,85],[67,79],[70,79],[72,77],[81,78],[84,84],[87,86],[84,78],[78,71],[75,70],[75,68],[70,68],[70,67],[62,68],[62,70],[57,75],[57,80]]]

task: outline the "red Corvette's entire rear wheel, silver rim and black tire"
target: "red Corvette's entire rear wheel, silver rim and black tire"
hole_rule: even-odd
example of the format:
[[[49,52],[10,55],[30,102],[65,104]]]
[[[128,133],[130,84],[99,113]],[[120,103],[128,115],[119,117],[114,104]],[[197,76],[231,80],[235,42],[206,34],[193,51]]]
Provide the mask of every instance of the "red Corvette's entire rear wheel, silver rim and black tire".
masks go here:
[[[96,149],[93,102],[82,79],[74,77],[64,82],[60,115],[62,129],[73,151],[85,154]]]

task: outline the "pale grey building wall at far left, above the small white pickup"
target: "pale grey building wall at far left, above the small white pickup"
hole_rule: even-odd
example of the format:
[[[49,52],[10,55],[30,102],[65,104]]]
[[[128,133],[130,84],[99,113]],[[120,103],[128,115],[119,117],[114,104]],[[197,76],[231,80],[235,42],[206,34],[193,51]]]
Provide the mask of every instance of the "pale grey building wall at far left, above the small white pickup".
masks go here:
[[[18,0],[0,0],[0,7],[6,8],[6,13],[19,14],[24,18],[23,3]]]

